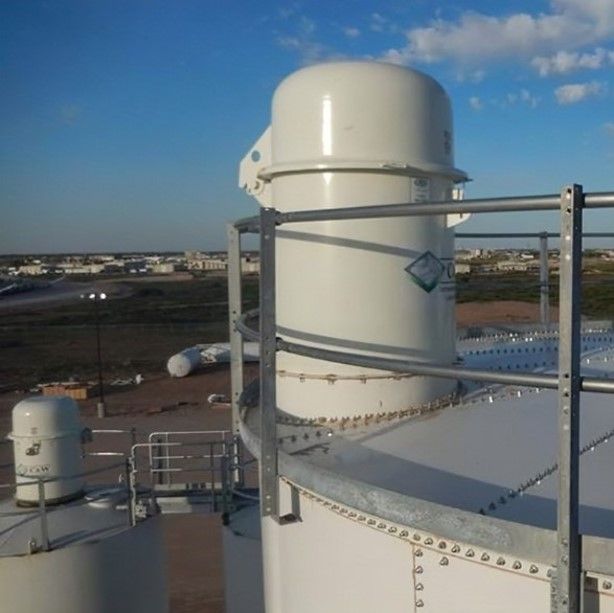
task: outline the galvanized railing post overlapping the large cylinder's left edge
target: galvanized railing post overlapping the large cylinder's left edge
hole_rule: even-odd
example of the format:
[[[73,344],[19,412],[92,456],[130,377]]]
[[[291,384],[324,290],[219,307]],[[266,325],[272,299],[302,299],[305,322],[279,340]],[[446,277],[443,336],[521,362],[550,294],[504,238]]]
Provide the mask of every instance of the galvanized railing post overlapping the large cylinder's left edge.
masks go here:
[[[275,316],[276,211],[260,211],[260,513],[279,514],[277,483],[276,316]]]

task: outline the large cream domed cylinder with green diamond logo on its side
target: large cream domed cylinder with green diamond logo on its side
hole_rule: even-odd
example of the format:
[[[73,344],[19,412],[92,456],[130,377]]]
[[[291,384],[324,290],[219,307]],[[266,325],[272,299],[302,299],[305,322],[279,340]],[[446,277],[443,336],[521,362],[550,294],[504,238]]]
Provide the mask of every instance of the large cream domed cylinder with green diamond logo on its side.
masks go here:
[[[299,70],[277,88],[265,135],[259,144],[270,143],[270,151],[258,154],[269,164],[258,177],[284,212],[450,199],[464,178],[454,168],[445,91],[399,66],[341,62]],[[283,225],[276,243],[279,334],[337,351],[451,364],[448,226],[445,215]],[[306,418],[404,410],[455,387],[287,353],[278,354],[277,366],[279,407]]]

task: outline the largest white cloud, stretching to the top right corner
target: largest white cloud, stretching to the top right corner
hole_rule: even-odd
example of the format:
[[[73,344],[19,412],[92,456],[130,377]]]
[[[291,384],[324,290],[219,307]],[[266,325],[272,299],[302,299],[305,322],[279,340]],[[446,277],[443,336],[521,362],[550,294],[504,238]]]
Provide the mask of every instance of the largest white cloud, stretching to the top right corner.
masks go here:
[[[495,17],[464,12],[458,20],[436,19],[406,31],[407,44],[385,57],[397,63],[485,64],[577,49],[613,35],[612,0],[551,0],[546,13]]]

